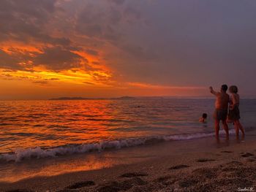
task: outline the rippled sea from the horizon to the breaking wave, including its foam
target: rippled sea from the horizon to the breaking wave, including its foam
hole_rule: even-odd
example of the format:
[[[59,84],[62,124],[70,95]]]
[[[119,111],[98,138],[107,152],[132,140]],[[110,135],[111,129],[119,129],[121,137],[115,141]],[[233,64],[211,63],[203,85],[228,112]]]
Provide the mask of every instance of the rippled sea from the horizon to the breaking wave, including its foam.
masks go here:
[[[213,111],[214,99],[0,101],[0,163],[209,137]],[[241,100],[247,130],[255,114],[256,99]]]

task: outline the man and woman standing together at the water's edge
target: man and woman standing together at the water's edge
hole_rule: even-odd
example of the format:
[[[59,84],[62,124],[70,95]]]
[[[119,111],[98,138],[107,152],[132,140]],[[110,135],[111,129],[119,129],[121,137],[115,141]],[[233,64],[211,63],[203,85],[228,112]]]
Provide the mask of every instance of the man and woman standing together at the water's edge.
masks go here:
[[[240,123],[240,111],[239,111],[239,102],[240,97],[238,95],[238,88],[235,85],[228,88],[230,96],[227,94],[227,85],[222,85],[220,92],[214,91],[210,87],[211,93],[216,96],[215,102],[215,135],[219,139],[219,123],[222,122],[222,126],[226,132],[226,137],[229,137],[227,120],[234,123],[236,128],[236,137],[239,137],[239,130],[244,137],[244,128]]]

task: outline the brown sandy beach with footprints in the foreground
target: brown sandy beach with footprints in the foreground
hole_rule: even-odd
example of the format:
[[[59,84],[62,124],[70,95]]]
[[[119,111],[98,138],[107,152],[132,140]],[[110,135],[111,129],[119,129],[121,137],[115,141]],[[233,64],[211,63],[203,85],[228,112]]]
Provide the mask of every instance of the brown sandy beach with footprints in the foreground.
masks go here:
[[[0,183],[0,191],[256,191],[255,138],[251,132],[244,140],[207,137],[133,147],[125,153],[140,150],[150,158]]]

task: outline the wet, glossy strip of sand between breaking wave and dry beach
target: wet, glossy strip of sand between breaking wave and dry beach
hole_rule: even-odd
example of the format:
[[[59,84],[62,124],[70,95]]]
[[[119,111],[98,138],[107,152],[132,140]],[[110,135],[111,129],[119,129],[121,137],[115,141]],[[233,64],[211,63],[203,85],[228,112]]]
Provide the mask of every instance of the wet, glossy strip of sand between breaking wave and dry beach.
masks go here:
[[[237,140],[231,136],[230,140],[221,137],[219,142],[214,137],[189,139],[186,141],[159,142],[154,145],[140,145],[126,147],[121,150],[105,150],[102,153],[80,153],[61,155],[56,158],[24,159],[19,162],[5,162],[0,164],[0,188],[2,183],[29,179],[33,177],[51,177],[58,174],[85,172],[96,169],[105,169],[112,166],[125,166],[140,162],[154,161],[158,158],[176,158],[187,153],[212,153],[222,151],[223,147],[246,145],[246,142],[255,141],[255,130],[246,133],[245,139]],[[216,155],[214,153],[214,155]],[[99,170],[100,172],[100,170]]]

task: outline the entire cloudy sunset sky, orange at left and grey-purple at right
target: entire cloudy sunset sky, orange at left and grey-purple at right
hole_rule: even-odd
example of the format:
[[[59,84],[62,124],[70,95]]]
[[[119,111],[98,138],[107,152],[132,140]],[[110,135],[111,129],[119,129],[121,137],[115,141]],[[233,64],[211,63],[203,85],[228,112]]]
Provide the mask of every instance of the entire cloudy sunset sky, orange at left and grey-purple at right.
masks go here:
[[[0,99],[256,96],[254,0],[1,0]]]

